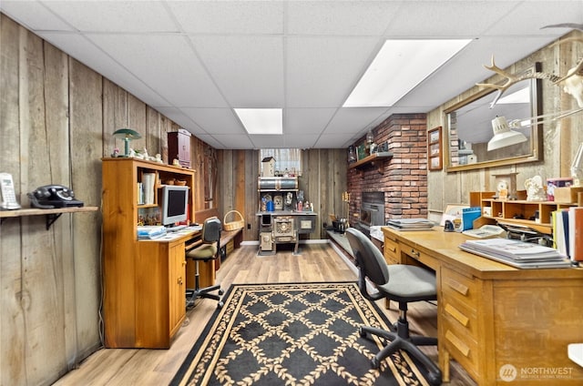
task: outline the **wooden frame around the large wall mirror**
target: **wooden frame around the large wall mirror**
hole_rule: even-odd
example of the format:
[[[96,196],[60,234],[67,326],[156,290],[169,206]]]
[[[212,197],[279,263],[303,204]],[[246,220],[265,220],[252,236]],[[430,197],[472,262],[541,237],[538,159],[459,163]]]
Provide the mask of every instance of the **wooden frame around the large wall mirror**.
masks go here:
[[[536,63],[534,66],[527,68],[527,70],[521,72],[519,75],[527,75],[534,72],[540,72],[540,63]],[[532,97],[532,112],[531,117],[537,117],[542,114],[542,81],[540,79],[527,79],[523,80],[523,82],[530,82],[530,89],[531,89],[531,97]],[[494,96],[496,93],[496,89],[494,88],[486,88],[474,94],[473,96],[469,96],[464,100],[456,103],[454,106],[446,108],[444,110],[444,127],[445,127],[445,144],[444,144],[444,156],[445,156],[445,171],[446,172],[455,172],[455,171],[462,171],[462,170],[472,170],[478,168],[494,168],[499,166],[505,165],[514,165],[526,162],[536,162],[541,161],[543,159],[543,125],[542,123],[538,123],[537,125],[532,126],[532,133],[530,136],[530,152],[527,155],[519,156],[519,157],[506,157],[506,158],[499,158],[487,161],[476,162],[474,164],[466,164],[466,165],[458,165],[452,166],[452,156],[450,153],[450,132],[449,132],[449,119],[448,114],[455,111],[460,107],[464,107],[479,98],[486,97],[489,95]]]

